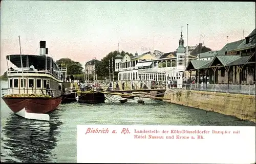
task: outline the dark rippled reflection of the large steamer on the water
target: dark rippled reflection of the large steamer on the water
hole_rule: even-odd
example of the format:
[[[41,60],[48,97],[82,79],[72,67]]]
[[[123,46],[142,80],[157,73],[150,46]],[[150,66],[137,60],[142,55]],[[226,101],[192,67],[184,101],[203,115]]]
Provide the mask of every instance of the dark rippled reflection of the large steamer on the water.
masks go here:
[[[2,129],[1,160],[8,156],[5,162],[51,162],[62,122],[56,112],[50,117],[50,122],[43,122],[11,115]],[[2,149],[10,151],[4,156]]]

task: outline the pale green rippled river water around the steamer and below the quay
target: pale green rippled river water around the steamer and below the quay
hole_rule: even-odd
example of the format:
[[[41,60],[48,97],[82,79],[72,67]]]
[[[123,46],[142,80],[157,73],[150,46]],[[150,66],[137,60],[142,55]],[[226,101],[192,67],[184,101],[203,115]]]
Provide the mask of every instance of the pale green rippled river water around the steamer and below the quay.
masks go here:
[[[7,87],[1,81],[1,88]],[[2,93],[1,93],[2,95]],[[61,104],[50,122],[16,116],[1,99],[2,162],[76,162],[76,125],[220,125],[255,126],[249,121],[195,108],[144,99],[121,104],[111,97],[104,104]]]

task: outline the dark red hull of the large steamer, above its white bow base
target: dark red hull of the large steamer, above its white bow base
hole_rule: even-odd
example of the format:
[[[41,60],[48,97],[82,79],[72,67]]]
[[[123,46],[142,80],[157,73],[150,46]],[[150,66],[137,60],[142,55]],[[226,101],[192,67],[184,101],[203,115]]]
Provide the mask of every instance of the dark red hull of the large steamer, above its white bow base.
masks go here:
[[[27,113],[46,114],[55,110],[61,103],[62,96],[55,98],[2,97],[10,109],[17,113],[26,107]]]

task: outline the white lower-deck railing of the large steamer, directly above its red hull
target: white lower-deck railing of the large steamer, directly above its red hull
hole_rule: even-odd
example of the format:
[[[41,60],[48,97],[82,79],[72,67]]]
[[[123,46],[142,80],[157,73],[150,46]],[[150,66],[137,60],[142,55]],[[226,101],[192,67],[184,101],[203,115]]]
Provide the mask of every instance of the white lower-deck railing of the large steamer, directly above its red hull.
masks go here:
[[[48,91],[48,94],[47,94]],[[14,94],[32,94],[32,95],[49,95],[59,97],[62,95],[62,90],[43,89],[43,88],[3,88],[2,96]],[[52,95],[51,95],[52,94]]]

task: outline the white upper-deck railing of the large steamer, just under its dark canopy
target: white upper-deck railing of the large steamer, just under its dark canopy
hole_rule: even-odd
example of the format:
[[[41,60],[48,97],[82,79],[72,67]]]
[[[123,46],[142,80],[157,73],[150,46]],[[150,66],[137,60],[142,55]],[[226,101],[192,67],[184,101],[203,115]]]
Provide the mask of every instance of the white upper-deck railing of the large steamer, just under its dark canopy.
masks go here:
[[[8,68],[7,70],[7,74],[11,74],[11,73],[39,73],[39,74],[49,74],[54,76],[57,79],[60,79],[60,76],[58,76],[57,71],[54,70],[39,70],[39,69],[35,69],[35,68]]]

